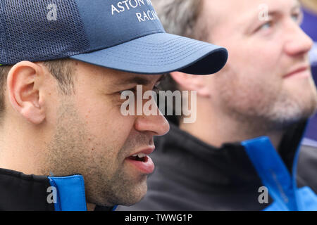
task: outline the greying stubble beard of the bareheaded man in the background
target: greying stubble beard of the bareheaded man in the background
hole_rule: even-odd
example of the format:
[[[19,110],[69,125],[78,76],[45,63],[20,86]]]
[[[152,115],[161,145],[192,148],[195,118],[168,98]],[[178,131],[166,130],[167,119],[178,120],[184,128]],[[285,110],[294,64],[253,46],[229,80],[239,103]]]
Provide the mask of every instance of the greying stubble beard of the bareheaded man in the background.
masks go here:
[[[290,96],[287,91],[270,91],[270,87],[263,84],[236,89],[232,88],[235,84],[227,82],[220,88],[222,111],[240,123],[241,128],[247,129],[249,134],[265,135],[271,131],[287,131],[292,125],[316,113],[316,86],[311,85],[309,98],[303,101]],[[245,94],[237,91],[245,91]]]

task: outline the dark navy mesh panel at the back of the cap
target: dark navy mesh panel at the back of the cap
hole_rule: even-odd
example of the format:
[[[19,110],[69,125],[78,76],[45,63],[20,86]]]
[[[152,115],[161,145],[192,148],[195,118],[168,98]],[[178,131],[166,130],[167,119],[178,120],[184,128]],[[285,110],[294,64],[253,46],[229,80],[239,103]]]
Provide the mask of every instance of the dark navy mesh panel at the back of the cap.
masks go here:
[[[1,64],[66,58],[85,49],[89,41],[74,0],[0,1]]]

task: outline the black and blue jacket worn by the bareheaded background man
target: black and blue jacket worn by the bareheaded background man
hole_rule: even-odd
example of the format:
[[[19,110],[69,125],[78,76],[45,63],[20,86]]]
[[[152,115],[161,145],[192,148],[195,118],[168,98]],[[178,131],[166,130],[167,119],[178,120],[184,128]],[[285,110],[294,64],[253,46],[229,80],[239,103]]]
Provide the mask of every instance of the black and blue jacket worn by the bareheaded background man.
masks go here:
[[[155,140],[147,195],[118,210],[317,210],[317,148],[300,144],[305,127],[275,150],[265,136],[214,148],[170,124]]]

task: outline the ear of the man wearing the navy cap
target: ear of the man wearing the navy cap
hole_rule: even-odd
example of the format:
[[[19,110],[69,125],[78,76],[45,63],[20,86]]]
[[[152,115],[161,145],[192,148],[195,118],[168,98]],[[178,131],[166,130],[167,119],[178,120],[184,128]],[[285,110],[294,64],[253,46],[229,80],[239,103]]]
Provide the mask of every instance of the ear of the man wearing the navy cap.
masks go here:
[[[8,72],[9,101],[16,112],[34,124],[40,124],[45,119],[39,94],[39,83],[42,82],[43,77],[43,68],[28,61],[13,65]]]

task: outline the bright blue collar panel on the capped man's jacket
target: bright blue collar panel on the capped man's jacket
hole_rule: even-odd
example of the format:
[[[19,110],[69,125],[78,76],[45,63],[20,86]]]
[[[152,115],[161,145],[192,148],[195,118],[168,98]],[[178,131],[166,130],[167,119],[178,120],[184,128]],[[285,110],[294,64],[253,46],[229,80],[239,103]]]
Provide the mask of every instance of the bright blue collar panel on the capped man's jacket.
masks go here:
[[[57,189],[55,211],[87,211],[84,178],[81,175],[48,176]]]

